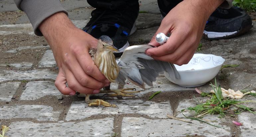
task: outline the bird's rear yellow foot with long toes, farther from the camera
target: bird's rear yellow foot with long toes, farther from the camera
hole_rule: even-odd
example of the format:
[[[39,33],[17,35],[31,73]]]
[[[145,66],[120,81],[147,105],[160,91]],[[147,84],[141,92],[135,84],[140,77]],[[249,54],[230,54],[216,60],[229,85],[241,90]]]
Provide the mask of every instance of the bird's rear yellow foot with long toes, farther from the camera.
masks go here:
[[[126,91],[126,90],[135,90],[135,91]],[[114,90],[102,90],[101,93],[114,93],[114,94],[107,94],[109,97],[112,96],[124,96],[124,97],[135,97],[136,95],[133,95],[133,93],[138,93],[143,90],[136,91],[136,88],[123,88],[123,89],[114,89]]]

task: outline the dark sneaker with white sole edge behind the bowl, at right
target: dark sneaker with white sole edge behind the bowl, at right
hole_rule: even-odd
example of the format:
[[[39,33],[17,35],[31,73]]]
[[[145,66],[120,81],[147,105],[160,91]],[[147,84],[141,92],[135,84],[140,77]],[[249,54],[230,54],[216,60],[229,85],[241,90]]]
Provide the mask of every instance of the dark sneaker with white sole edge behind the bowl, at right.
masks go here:
[[[207,40],[232,38],[248,32],[252,27],[252,19],[244,10],[238,7],[217,8],[205,25],[203,38]]]

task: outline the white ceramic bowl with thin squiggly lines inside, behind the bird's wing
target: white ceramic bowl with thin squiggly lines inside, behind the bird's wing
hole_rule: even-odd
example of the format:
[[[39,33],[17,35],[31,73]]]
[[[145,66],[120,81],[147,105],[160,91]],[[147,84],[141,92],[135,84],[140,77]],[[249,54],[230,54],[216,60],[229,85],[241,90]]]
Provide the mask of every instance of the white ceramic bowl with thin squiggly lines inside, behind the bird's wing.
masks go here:
[[[182,66],[175,65],[181,79],[172,82],[184,87],[204,85],[218,74],[224,61],[225,59],[221,56],[194,54],[188,64]]]

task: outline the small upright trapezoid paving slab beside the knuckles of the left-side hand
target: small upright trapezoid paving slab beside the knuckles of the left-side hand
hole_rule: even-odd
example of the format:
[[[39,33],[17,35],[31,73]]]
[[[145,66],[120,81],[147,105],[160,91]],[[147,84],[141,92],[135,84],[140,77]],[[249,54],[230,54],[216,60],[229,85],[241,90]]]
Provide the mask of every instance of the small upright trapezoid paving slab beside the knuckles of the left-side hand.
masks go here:
[[[38,68],[43,67],[56,67],[56,61],[53,56],[52,50],[46,50],[41,61],[39,62]]]

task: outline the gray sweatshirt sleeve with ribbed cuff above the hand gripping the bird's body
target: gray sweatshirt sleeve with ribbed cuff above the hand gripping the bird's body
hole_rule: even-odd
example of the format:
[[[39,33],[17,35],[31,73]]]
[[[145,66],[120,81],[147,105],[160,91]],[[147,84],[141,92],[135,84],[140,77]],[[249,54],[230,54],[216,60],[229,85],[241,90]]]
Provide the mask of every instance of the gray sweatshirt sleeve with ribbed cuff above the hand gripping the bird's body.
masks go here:
[[[14,0],[14,2],[27,14],[37,36],[43,36],[38,27],[47,17],[58,12],[67,14],[60,0]]]

